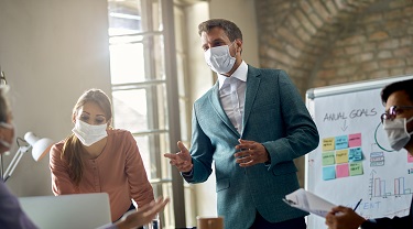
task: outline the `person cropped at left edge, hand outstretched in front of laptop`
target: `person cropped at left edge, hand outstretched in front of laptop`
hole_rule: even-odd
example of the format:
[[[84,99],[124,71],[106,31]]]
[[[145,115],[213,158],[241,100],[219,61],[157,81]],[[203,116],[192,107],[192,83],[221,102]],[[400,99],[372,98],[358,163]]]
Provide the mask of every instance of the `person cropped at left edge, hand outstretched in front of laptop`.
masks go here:
[[[0,87],[0,154],[10,150],[14,139],[12,113],[6,97],[7,90],[7,86]],[[155,215],[161,212],[169,201],[169,198],[160,197],[157,200],[152,201],[138,210],[129,211],[117,222],[99,227],[99,229],[129,229],[141,227],[151,222]],[[0,181],[0,228],[37,228],[24,214],[19,204],[19,199],[9,190],[3,179]]]

